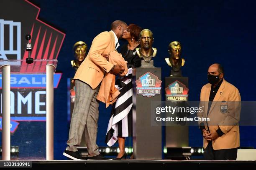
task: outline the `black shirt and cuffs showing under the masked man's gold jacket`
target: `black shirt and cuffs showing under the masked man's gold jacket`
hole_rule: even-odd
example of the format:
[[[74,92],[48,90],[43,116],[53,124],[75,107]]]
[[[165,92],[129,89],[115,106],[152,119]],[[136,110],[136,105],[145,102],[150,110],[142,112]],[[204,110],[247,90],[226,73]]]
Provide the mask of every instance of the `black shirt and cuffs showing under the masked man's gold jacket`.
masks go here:
[[[210,108],[211,108],[211,105],[212,105],[212,101],[216,95],[216,93],[218,92],[219,88],[220,88],[220,85],[222,84],[223,82],[223,79],[216,85],[212,85],[211,87],[211,92],[210,92],[210,96],[209,96],[209,103],[208,103],[208,110],[207,110],[207,115],[210,111]],[[207,125],[208,126],[208,125]],[[205,125],[204,123],[200,123],[200,129],[201,131],[205,129]],[[209,129],[209,128],[208,128]],[[220,128],[218,128],[218,130],[216,130],[216,132],[218,133],[219,136],[222,136],[224,133],[220,130]]]

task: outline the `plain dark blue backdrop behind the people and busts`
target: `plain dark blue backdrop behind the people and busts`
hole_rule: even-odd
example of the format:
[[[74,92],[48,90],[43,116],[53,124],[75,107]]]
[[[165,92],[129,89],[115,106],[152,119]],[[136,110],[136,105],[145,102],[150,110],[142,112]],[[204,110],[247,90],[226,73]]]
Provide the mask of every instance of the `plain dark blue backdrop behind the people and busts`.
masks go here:
[[[154,63],[162,68],[162,80],[169,76],[170,68],[164,61],[164,57],[168,56],[169,42],[181,42],[182,57],[186,60],[182,71],[184,76],[189,77],[189,100],[199,100],[200,89],[207,83],[207,68],[214,62],[224,66],[225,79],[238,87],[242,100],[255,100],[255,1],[32,2],[41,7],[41,20],[66,33],[57,66],[63,76],[58,89],[54,91],[54,159],[65,159],[62,152],[68,138],[67,78],[74,76],[70,65],[72,46],[82,40],[90,47],[93,38],[109,30],[114,20],[135,23],[154,33],[154,47],[158,50]],[[110,109],[105,110],[104,104],[101,104],[97,138],[99,146],[106,146],[104,140],[109,114]],[[241,146],[256,147],[256,128],[240,129]],[[202,146],[197,127],[189,129],[189,145]]]

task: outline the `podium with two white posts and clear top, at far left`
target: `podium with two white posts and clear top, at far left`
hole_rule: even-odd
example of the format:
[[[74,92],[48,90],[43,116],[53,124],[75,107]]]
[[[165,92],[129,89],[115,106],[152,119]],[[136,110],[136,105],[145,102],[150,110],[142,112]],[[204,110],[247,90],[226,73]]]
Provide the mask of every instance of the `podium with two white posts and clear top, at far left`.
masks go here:
[[[46,160],[54,159],[54,73],[57,60],[0,60],[2,74],[2,160],[10,160],[10,74],[46,74]]]

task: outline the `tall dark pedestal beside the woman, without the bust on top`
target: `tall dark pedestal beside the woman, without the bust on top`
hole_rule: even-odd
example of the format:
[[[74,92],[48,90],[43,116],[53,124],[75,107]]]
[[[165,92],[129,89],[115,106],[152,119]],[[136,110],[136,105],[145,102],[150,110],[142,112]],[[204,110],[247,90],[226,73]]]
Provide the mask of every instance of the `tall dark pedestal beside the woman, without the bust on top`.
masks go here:
[[[160,80],[161,68],[140,67],[133,69],[133,156],[139,160],[162,159],[161,125],[151,125],[151,102],[161,101]],[[157,88],[148,90],[152,87]],[[150,93],[145,92],[155,92],[156,94],[147,97],[145,94]]]

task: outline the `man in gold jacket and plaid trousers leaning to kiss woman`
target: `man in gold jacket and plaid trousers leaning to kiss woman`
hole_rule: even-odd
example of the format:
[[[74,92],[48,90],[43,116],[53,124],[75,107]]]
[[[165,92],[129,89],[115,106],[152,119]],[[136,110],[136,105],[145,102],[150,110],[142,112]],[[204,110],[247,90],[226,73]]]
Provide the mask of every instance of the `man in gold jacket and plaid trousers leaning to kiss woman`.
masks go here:
[[[107,73],[122,74],[122,65],[113,65],[104,55],[115,51],[119,46],[118,39],[122,37],[127,24],[116,20],[111,24],[111,30],[97,35],[92,41],[87,57],[79,66],[73,81],[76,85],[74,110],[72,113],[68,147],[63,155],[73,160],[82,160],[76,146],[81,143],[82,133],[85,129],[85,141],[89,160],[107,159],[100,155],[96,145],[99,103],[96,100],[100,83]]]

